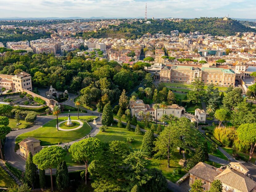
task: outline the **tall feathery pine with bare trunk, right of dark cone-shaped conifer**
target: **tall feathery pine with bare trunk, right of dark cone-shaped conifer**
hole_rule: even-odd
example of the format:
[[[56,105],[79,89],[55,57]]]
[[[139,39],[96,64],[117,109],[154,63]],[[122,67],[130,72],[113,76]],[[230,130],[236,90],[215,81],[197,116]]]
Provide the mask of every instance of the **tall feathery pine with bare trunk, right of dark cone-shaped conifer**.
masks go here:
[[[170,156],[173,152],[173,128],[169,125],[165,127],[160,135],[156,138],[154,151],[155,157],[167,157],[167,167],[170,167]]]

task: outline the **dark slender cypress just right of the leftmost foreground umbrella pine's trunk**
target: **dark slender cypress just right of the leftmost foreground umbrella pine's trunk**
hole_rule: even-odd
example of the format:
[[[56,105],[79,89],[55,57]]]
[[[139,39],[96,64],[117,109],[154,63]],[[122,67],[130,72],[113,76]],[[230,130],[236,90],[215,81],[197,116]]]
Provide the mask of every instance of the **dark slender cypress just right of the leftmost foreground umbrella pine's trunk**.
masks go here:
[[[68,187],[68,167],[65,161],[60,162],[56,169],[56,185],[58,190],[63,191]]]

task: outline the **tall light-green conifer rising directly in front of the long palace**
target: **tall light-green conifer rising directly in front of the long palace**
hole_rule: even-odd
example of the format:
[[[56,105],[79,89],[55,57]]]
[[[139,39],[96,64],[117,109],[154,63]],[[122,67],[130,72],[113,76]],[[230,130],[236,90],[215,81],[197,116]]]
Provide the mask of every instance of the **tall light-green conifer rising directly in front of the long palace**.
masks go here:
[[[194,101],[196,104],[202,101],[205,90],[204,90],[204,82],[201,81],[201,78],[196,77],[192,82],[192,90],[188,92],[187,97],[188,100]]]

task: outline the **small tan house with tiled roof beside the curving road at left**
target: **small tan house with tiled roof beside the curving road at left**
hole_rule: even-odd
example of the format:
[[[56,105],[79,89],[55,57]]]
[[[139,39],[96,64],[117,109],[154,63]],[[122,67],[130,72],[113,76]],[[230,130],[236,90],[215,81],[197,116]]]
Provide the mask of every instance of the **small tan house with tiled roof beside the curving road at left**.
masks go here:
[[[32,155],[35,155],[42,148],[43,147],[40,145],[40,141],[33,137],[23,139],[19,143],[20,155],[26,159],[29,155],[29,152],[31,152]]]

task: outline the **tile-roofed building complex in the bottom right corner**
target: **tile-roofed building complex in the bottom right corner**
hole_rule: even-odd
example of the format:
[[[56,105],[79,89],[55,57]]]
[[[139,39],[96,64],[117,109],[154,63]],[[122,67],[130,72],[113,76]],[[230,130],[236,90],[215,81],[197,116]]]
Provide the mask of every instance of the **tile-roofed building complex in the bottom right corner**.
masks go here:
[[[206,163],[198,163],[190,171],[189,185],[200,179],[203,189],[209,190],[214,180],[220,180],[223,192],[255,192],[256,182],[250,178],[249,170],[242,164],[231,162],[222,169]]]

